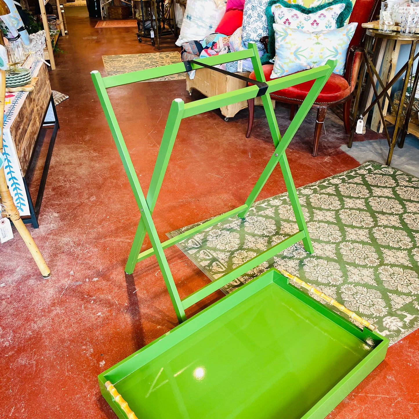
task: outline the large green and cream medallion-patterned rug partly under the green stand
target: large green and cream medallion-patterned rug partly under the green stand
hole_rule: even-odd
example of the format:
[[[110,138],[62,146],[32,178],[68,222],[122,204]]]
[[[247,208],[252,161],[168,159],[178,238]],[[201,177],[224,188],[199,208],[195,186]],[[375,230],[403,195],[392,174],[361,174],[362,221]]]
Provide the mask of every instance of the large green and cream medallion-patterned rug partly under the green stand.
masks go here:
[[[419,179],[369,161],[297,191],[314,253],[297,243],[222,291],[274,266],[360,314],[391,343],[419,327]],[[256,202],[245,220],[225,220],[178,247],[214,280],[297,230],[285,193]]]

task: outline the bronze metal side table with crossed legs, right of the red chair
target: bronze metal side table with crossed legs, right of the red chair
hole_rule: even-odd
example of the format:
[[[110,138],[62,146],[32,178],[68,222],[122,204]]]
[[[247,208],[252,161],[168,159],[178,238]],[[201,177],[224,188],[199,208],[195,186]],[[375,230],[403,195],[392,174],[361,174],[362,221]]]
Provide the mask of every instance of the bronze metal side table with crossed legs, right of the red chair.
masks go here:
[[[357,90],[357,95],[355,97],[355,103],[354,103],[354,111],[353,111],[353,124],[352,124],[352,129],[351,129],[351,135],[349,138],[349,144],[348,147],[352,147],[352,140],[353,140],[353,136],[354,136],[354,129],[355,129],[355,125],[357,123],[357,119],[360,113],[362,113],[362,115],[367,115],[368,112],[378,103],[378,106],[376,107],[376,109],[378,110],[378,113],[380,114],[380,120],[381,120],[381,124],[382,127],[384,129],[385,132],[385,136],[387,138],[387,142],[388,142],[388,146],[389,146],[389,151],[388,151],[388,156],[387,156],[387,161],[386,164],[390,165],[391,163],[391,158],[393,156],[393,150],[394,147],[396,145],[397,139],[399,137],[399,134],[401,133],[401,138],[400,138],[400,142],[399,142],[399,147],[402,148],[404,145],[404,140],[406,137],[406,133],[407,133],[407,129],[409,126],[409,119],[410,119],[410,114],[411,114],[411,109],[412,109],[412,105],[413,105],[413,101],[414,101],[414,94],[410,95],[409,98],[409,104],[408,104],[408,108],[406,111],[406,116],[405,118],[403,118],[402,115],[402,111],[403,111],[403,104],[406,98],[406,91],[407,88],[410,84],[411,87],[411,91],[412,92],[416,92],[416,88],[417,88],[417,83],[418,83],[418,76],[419,76],[419,66],[417,66],[416,68],[416,74],[414,77],[414,81],[412,83],[411,79],[410,79],[410,75],[412,73],[412,69],[413,69],[413,63],[414,60],[416,58],[419,57],[419,53],[415,54],[416,51],[416,44],[419,41],[419,34],[415,34],[415,35],[403,35],[400,34],[400,32],[392,32],[390,34],[380,34],[380,32],[377,29],[367,29],[366,31],[366,44],[365,44],[365,49],[364,49],[364,56],[363,56],[363,65],[362,65],[362,70],[360,72],[360,84]],[[411,44],[411,48],[410,48],[410,53],[409,53],[409,58],[407,60],[407,62],[401,67],[401,69],[397,72],[396,75],[394,75],[394,77],[391,78],[391,80],[385,80],[386,83],[383,82],[382,80],[382,75],[384,74],[383,71],[381,72],[381,75],[378,74],[377,68],[376,66],[372,63],[371,60],[371,51],[374,47],[374,44],[376,44],[378,41],[381,42],[381,49],[383,48],[383,43],[384,41],[387,43],[389,42],[389,45],[398,45],[398,48],[401,44],[401,42],[406,43],[406,44]],[[396,44],[394,44],[394,42],[396,42]],[[385,47],[385,44],[384,44]],[[398,55],[398,48],[396,48],[396,52]],[[394,51],[392,51],[392,55],[394,56]],[[386,60],[388,61],[389,58],[387,57]],[[384,67],[388,66],[387,61],[384,62]],[[381,64],[382,60],[380,61]],[[377,67],[379,67],[379,65],[377,63]],[[388,68],[388,67],[387,67]],[[393,69],[395,69],[395,65],[393,66]],[[394,74],[395,70],[393,70],[393,74]],[[401,91],[401,98],[400,98],[400,103],[398,105],[398,107],[396,108],[396,106],[394,105],[393,101],[390,98],[389,95],[389,91],[391,91],[391,87],[394,85],[394,83],[396,83],[396,81],[406,72],[406,77],[404,79],[404,83],[403,83],[403,88]],[[365,74],[368,74],[368,77],[370,80],[372,80],[371,82],[371,88],[372,91],[374,93],[375,99],[374,101],[372,101],[370,104],[365,105],[366,109],[363,112],[358,112],[358,106],[360,103],[360,97],[361,97],[361,91],[362,91],[362,80],[364,80]],[[390,77],[388,77],[390,78]],[[380,93],[378,93],[376,87],[375,87],[375,83],[376,81],[378,81],[379,83],[379,88],[380,88]],[[383,111],[382,109],[382,102],[383,102],[383,98],[385,98],[385,111]],[[368,101],[368,99],[367,99]],[[390,118],[386,118],[385,112],[387,111],[387,107],[390,104],[390,106],[393,108],[393,110],[396,112],[396,117],[394,118],[394,132],[392,137],[390,137],[390,135],[388,134],[388,130],[387,130],[387,126],[385,124],[385,122],[392,122],[392,119]],[[365,117],[366,119],[366,117]],[[376,123],[375,120],[373,120],[374,124]]]

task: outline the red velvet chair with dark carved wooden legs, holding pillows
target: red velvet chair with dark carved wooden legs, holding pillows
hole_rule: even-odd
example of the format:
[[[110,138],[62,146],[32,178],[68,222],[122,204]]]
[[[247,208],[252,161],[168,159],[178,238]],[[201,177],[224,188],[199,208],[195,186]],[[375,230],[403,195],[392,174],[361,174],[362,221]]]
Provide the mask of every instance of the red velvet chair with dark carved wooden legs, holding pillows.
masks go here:
[[[328,106],[343,104],[344,128],[347,134],[350,133],[350,108],[351,99],[357,83],[358,72],[362,61],[362,51],[357,45],[362,45],[365,37],[365,29],[362,23],[366,23],[374,18],[380,5],[380,0],[356,0],[349,23],[358,22],[355,34],[349,44],[346,70],[344,75],[332,74],[326,85],[323,87],[316,99],[313,107],[317,108],[316,127],[314,129],[313,156],[317,155],[318,143],[320,140],[321,129]],[[272,64],[262,66],[266,80],[270,80]],[[251,72],[250,78],[256,79],[255,73]],[[282,89],[271,93],[271,98],[278,102],[291,103],[290,119],[294,117],[295,106],[303,102],[314,81],[301,83],[290,88]],[[248,100],[249,116],[246,137],[250,137],[253,127],[255,100]]]

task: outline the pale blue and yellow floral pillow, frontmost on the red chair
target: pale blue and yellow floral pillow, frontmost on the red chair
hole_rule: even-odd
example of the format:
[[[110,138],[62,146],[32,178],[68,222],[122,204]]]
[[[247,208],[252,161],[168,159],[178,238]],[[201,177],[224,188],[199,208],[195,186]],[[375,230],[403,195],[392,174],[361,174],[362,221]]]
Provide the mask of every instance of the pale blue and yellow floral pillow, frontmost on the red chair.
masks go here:
[[[349,42],[357,23],[334,31],[307,32],[274,23],[275,62],[271,78],[293,74],[337,59],[336,74],[344,74]]]

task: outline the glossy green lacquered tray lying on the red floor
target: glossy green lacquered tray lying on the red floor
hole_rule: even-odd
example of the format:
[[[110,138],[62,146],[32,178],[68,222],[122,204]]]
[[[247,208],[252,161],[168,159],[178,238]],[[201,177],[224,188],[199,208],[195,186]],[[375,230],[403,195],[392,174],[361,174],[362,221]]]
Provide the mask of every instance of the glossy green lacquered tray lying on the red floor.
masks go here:
[[[99,375],[138,419],[323,419],[385,357],[388,339],[276,269]]]

